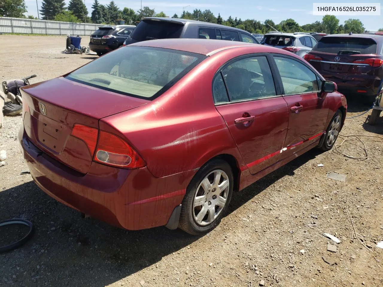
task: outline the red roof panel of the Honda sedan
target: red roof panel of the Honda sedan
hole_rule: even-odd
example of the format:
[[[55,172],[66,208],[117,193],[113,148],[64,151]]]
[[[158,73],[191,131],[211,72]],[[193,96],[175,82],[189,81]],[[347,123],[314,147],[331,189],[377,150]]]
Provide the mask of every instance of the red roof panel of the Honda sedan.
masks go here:
[[[246,42],[237,42],[237,41],[224,41],[224,40],[207,40],[207,39],[158,39],[150,41],[141,41],[129,46],[143,46],[143,47],[156,47],[156,48],[165,48],[173,49],[185,52],[191,52],[202,55],[212,55],[216,52],[233,48],[233,47],[244,47],[244,46],[262,46],[259,44],[252,44]],[[264,47],[264,46],[262,46]]]

